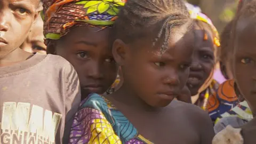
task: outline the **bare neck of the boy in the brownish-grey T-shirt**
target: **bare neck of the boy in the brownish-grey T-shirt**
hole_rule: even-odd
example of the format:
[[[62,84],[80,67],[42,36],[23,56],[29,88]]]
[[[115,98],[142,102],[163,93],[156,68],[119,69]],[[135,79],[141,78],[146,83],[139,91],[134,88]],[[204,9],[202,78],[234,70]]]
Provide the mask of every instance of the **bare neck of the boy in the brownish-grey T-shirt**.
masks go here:
[[[0,58],[0,67],[11,66],[11,65],[14,65],[15,63],[25,61],[33,55],[34,55],[33,53],[23,51],[20,48],[15,49],[14,51]]]

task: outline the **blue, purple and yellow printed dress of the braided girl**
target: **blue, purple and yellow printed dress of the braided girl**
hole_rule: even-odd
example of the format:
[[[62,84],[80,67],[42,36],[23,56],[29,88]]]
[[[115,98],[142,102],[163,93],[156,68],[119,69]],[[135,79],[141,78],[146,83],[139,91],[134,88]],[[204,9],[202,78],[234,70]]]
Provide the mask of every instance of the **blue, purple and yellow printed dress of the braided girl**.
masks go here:
[[[152,143],[107,99],[90,94],[79,106],[69,143]]]

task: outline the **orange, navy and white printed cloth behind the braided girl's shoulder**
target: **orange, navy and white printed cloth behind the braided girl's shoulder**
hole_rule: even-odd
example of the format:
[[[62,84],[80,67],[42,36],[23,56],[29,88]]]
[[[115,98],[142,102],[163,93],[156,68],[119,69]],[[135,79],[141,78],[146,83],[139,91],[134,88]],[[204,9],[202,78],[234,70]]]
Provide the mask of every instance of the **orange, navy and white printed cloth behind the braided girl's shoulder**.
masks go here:
[[[247,121],[252,119],[252,111],[246,101],[238,101],[234,86],[234,79],[222,83],[214,97],[209,99],[207,109],[215,123],[222,117],[230,116],[238,116]]]

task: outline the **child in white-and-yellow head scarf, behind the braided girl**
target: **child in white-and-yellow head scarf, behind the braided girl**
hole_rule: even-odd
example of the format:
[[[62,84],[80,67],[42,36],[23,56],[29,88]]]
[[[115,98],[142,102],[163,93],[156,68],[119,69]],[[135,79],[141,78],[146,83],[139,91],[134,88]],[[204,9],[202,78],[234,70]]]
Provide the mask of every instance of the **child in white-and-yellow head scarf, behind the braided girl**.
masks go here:
[[[213,79],[217,47],[220,46],[219,34],[205,14],[191,8],[189,12],[193,19],[195,39],[187,41],[194,49],[187,86],[192,95],[192,103],[208,110],[213,104],[211,97],[219,85]]]

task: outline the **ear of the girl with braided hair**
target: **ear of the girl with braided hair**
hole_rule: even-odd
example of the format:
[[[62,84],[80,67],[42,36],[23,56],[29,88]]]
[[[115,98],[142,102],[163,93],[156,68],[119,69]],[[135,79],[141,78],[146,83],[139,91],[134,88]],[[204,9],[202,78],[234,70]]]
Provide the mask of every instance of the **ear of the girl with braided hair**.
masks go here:
[[[119,66],[123,66],[128,46],[121,40],[116,39],[112,46],[112,53]]]

